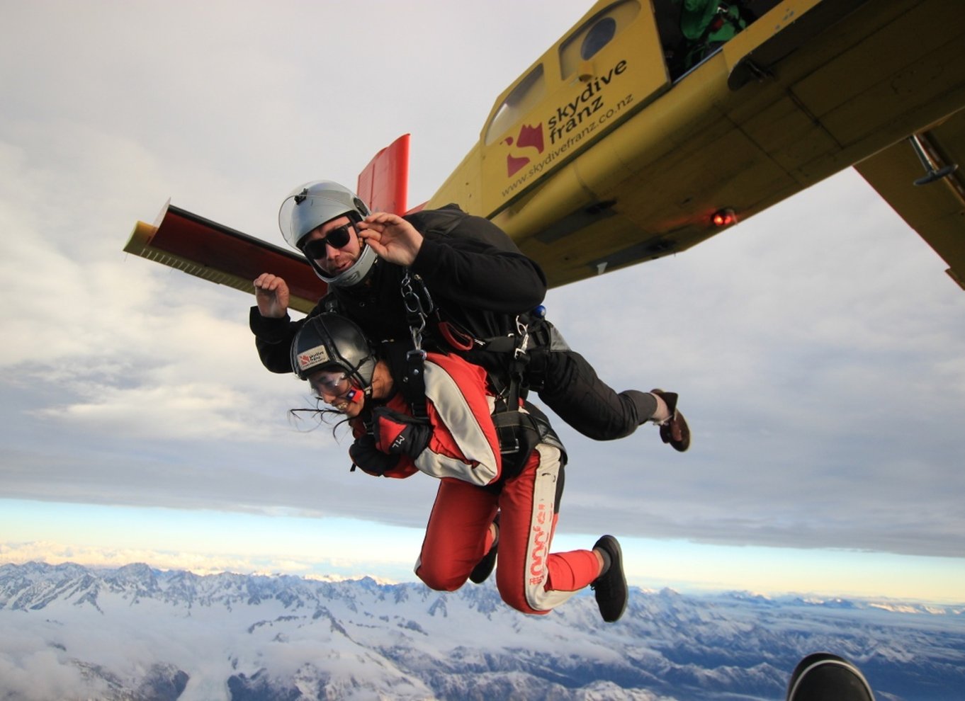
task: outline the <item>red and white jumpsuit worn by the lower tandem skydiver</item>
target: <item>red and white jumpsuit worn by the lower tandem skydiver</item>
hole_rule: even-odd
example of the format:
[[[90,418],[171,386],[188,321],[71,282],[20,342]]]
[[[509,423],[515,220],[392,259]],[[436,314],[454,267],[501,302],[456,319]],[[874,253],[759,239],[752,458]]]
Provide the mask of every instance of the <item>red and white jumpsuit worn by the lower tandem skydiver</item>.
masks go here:
[[[500,596],[524,613],[548,613],[599,574],[593,551],[549,552],[563,492],[560,448],[539,443],[522,471],[504,478],[485,370],[429,353],[425,381],[428,445],[414,461],[402,456],[385,473],[407,477],[419,470],[441,479],[416,575],[440,591],[462,586],[492,545],[489,525],[498,510]],[[388,406],[411,414],[399,393]]]

